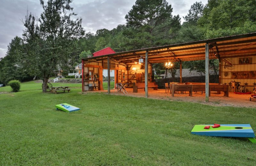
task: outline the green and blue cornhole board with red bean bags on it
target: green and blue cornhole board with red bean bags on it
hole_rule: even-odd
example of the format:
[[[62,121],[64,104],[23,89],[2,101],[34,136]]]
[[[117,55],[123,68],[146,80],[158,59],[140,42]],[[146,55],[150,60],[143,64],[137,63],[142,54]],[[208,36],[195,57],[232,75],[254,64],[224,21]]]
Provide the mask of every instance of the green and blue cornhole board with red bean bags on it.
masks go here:
[[[192,134],[215,136],[215,137],[244,137],[252,143],[256,143],[255,134],[250,124],[220,124],[220,127],[204,129],[204,126],[213,124],[197,124],[192,129]]]

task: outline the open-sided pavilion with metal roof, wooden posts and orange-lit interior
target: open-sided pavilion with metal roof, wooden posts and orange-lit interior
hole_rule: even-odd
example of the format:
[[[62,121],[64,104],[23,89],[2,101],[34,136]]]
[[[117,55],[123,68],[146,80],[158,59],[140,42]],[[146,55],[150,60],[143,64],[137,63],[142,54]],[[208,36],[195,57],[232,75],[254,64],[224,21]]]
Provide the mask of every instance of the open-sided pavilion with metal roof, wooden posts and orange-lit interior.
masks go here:
[[[115,84],[124,82],[132,86],[134,78],[141,74],[145,83],[145,97],[148,97],[148,82],[154,80],[152,64],[205,60],[205,101],[209,101],[209,59],[219,59],[219,83],[232,80],[240,82],[250,91],[256,86],[256,32],[215,39],[192,41],[180,44],[137,49],[82,59],[82,89],[88,91],[90,84],[102,90],[102,70],[115,70]],[[143,60],[142,60],[143,59]],[[142,62],[142,64],[139,64]],[[108,74],[109,75],[109,74]],[[148,81],[145,81],[148,80]],[[182,72],[180,72],[182,82]],[[108,77],[110,93],[110,77]]]

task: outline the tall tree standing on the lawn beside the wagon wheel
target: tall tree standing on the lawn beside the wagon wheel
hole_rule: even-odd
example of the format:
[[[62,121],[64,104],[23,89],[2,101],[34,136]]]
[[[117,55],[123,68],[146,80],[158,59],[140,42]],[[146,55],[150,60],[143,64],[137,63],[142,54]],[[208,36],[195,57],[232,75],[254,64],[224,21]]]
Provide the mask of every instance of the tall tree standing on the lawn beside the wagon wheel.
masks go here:
[[[54,70],[69,68],[76,41],[83,37],[82,19],[73,20],[76,14],[70,3],[73,0],[40,0],[43,8],[40,18],[30,13],[24,20],[25,52],[20,56],[20,65],[31,75],[43,79],[43,92]],[[23,60],[24,59],[24,60]]]

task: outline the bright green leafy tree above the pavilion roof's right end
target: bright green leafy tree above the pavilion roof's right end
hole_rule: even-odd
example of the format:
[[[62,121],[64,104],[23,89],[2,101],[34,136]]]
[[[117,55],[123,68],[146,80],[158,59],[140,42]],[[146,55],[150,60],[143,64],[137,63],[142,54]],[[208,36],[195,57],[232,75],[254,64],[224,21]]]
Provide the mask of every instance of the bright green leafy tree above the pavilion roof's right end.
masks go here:
[[[199,24],[206,38],[256,31],[255,0],[209,0]]]

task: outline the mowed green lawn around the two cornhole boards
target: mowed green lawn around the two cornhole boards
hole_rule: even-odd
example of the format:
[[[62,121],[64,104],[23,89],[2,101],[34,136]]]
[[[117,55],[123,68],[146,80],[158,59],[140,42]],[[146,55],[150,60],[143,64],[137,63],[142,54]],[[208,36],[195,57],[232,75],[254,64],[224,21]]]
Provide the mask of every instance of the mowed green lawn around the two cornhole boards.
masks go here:
[[[252,165],[256,144],[190,133],[195,124],[251,124],[255,109],[104,93],[42,93],[41,83],[0,94],[0,165]],[[0,91],[11,91],[10,87]],[[55,105],[81,108],[67,113]]]

